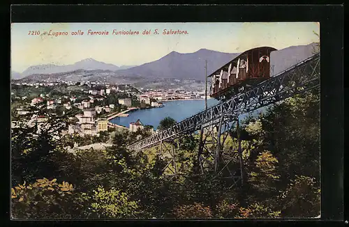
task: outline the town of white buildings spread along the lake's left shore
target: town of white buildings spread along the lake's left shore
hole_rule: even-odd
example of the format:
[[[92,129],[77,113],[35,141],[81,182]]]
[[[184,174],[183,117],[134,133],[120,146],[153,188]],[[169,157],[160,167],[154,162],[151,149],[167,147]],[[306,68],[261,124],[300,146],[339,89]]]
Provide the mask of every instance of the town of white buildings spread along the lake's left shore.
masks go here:
[[[27,126],[43,125],[49,116],[29,111],[29,107],[45,109],[48,114],[64,115],[74,113],[69,118],[68,127],[61,136],[99,136],[110,128],[136,132],[143,129],[138,120],[128,127],[110,123],[112,118],[127,117],[129,111],[163,107],[170,100],[205,99],[205,91],[152,90],[135,88],[130,84],[108,84],[94,81],[41,82],[12,84],[12,127],[20,127],[24,119]],[[32,114],[29,116],[28,115]],[[27,118],[22,118],[26,116]],[[149,127],[151,133],[155,131]],[[39,130],[39,129],[38,129]]]

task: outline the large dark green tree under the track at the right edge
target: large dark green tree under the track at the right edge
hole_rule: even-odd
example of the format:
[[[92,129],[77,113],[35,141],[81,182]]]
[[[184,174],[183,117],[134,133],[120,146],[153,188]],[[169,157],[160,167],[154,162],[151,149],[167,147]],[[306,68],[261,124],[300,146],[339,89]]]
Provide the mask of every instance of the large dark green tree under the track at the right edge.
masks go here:
[[[283,187],[295,178],[320,176],[320,93],[288,98],[260,116],[265,150],[279,160]]]

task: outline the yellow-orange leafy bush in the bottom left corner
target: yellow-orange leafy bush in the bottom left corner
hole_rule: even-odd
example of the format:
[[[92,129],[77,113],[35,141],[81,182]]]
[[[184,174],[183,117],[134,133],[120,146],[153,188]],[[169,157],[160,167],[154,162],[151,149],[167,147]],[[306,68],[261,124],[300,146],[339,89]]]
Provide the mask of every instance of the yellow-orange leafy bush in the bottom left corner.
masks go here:
[[[74,192],[68,182],[57,179],[37,179],[33,184],[24,181],[11,188],[12,214],[20,219],[85,218],[88,216],[87,194]]]

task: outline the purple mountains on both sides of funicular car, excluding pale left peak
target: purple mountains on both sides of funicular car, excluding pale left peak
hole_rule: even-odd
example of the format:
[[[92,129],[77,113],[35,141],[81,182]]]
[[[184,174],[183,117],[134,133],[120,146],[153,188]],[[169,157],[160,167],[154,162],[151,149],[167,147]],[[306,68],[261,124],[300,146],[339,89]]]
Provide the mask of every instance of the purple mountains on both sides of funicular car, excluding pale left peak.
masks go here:
[[[271,63],[274,74],[289,68],[299,61],[313,55],[315,44],[299,45],[272,52]],[[241,53],[228,54],[209,49],[199,49],[197,52],[181,54],[170,52],[166,56],[127,70],[117,70],[120,75],[134,75],[147,78],[176,78],[205,80],[205,60],[207,60],[207,75],[221,68]]]

